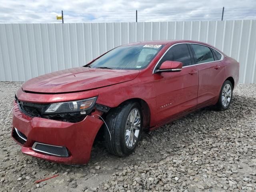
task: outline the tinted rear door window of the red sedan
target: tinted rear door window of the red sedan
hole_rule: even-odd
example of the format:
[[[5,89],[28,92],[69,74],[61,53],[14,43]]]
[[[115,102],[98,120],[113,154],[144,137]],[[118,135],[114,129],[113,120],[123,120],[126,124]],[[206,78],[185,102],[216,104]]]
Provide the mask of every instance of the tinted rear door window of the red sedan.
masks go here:
[[[196,64],[214,61],[210,48],[197,44],[191,44],[191,46],[196,54]]]

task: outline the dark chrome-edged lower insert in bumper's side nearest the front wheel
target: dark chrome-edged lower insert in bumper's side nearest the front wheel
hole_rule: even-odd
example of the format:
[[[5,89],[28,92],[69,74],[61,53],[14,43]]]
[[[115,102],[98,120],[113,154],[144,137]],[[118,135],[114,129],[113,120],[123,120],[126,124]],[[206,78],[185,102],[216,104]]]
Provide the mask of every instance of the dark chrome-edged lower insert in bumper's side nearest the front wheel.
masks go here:
[[[48,145],[35,142],[32,149],[37,152],[54,155],[59,157],[68,157],[68,150],[66,147]]]

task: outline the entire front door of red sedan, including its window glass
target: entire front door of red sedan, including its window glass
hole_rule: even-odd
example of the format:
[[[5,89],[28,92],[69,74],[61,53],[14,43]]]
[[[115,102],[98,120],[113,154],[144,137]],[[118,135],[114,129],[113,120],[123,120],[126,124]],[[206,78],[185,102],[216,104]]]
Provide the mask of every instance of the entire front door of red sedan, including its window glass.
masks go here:
[[[183,63],[180,72],[161,72],[153,74],[156,89],[156,111],[158,124],[193,110],[197,106],[198,69],[191,59],[187,44],[172,46],[159,62],[166,61]]]

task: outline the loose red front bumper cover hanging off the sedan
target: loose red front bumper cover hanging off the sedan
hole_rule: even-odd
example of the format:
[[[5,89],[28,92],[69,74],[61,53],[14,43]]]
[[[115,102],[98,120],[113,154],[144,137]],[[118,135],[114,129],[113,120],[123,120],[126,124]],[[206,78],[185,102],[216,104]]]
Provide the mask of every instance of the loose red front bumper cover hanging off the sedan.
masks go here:
[[[71,123],[32,118],[20,112],[18,106],[12,112],[12,138],[22,146],[22,152],[64,164],[88,163],[94,138],[103,124],[89,115]]]

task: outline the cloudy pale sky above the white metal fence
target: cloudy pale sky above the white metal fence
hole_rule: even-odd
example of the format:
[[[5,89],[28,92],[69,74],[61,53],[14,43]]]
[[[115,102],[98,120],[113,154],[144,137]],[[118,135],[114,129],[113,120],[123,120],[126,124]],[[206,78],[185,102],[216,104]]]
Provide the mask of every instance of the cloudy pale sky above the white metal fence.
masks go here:
[[[256,19],[256,0],[1,0],[0,23]]]

